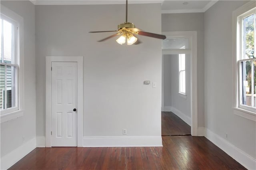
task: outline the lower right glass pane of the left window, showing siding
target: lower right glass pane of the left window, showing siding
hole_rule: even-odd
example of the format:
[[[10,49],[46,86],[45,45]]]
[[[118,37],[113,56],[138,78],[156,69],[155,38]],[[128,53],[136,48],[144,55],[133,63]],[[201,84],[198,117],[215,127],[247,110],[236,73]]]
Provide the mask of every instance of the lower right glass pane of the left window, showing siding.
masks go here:
[[[10,107],[15,107],[15,82],[14,82],[14,77],[15,77],[15,70],[16,68],[13,66],[7,66],[6,67],[6,108]]]

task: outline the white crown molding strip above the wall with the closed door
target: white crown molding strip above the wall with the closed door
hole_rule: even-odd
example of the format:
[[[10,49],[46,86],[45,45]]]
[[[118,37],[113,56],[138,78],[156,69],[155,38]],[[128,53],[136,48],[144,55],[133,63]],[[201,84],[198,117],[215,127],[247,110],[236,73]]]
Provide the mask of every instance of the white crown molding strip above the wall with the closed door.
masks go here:
[[[156,4],[164,0],[129,0],[129,4]],[[30,0],[34,5],[107,5],[125,4],[124,0]]]

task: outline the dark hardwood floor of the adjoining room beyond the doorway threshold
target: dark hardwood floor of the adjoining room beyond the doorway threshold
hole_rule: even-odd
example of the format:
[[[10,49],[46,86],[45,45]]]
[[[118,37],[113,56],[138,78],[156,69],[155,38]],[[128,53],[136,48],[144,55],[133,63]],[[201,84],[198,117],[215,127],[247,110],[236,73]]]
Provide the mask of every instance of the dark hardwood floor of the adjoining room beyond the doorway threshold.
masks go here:
[[[191,127],[172,112],[162,112],[162,136],[191,134]]]

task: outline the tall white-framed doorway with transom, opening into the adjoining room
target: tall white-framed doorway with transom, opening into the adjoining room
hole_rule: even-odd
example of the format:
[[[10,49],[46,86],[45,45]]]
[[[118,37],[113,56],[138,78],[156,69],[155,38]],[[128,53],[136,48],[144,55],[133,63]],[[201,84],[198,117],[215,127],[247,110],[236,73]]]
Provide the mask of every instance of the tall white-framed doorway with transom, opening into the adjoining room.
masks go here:
[[[198,136],[196,31],[162,34],[162,135]]]

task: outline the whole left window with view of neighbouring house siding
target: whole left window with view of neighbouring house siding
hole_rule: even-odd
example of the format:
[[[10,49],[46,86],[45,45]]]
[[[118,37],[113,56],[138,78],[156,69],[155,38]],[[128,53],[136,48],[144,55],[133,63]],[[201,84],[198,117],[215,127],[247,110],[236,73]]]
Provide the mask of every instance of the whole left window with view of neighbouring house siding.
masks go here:
[[[23,115],[23,19],[1,5],[0,111],[1,123]],[[23,46],[22,46],[23,47]]]

